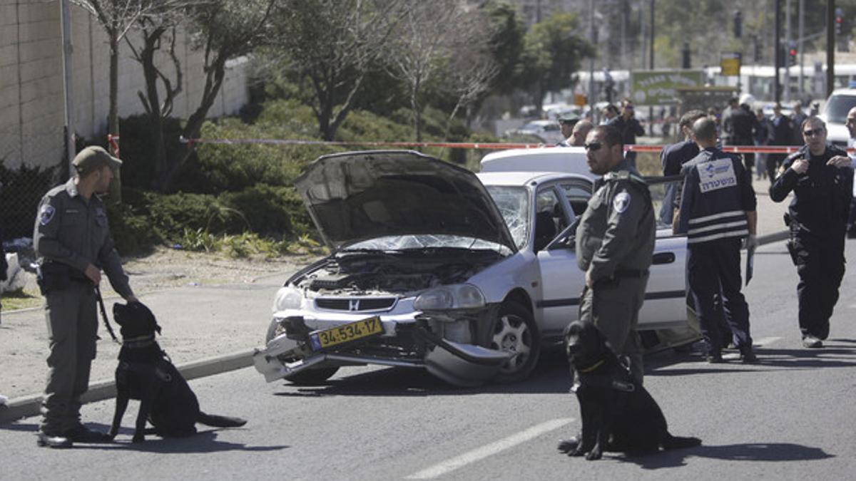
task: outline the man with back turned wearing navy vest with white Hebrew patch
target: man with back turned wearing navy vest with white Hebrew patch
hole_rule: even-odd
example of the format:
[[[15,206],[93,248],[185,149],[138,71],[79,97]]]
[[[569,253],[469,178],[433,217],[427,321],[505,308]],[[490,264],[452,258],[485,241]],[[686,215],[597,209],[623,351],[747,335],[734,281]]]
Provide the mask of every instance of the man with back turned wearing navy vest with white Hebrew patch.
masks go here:
[[[722,339],[717,325],[724,314],[731,326],[740,359],[755,362],[749,335],[749,307],[740,293],[740,244],[757,246],[757,199],[740,158],[716,148],[716,123],[693,122],[693,139],[701,151],[684,164],[685,175],[676,231],[687,235],[687,282],[692,291],[707,360],[722,362]],[[715,297],[722,296],[722,311]]]

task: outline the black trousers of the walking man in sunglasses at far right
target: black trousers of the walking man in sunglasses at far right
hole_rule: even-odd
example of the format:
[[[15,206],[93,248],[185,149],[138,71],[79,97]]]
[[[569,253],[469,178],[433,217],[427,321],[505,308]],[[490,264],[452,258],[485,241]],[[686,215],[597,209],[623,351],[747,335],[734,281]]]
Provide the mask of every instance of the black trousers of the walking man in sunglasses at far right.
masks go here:
[[[833,237],[817,237],[799,231],[792,235],[794,262],[800,282],[800,331],[802,336],[826,339],[829,318],[838,302],[838,287],[844,277],[844,229]]]

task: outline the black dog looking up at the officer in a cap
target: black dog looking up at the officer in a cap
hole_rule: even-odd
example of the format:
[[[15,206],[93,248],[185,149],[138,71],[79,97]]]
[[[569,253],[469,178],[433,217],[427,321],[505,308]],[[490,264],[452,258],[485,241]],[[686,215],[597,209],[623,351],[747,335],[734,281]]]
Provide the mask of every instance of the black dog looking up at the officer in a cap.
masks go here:
[[[128,400],[140,400],[134,442],[145,440],[146,420],[158,436],[190,436],[196,423],[215,427],[238,427],[244,419],[214,416],[199,411],[199,401],[181,372],[175,369],[158,342],[160,334],[152,311],[140,302],[113,305],[116,324],[122,326],[122,349],[116,367],[116,414],[109,436],[116,436]]]

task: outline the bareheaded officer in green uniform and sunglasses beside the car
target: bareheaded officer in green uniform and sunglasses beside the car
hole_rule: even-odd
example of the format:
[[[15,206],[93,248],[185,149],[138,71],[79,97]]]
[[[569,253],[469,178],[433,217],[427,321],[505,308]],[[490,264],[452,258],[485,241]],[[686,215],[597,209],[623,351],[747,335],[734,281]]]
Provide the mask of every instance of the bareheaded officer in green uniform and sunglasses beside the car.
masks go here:
[[[651,192],[624,157],[618,129],[594,128],[585,146],[591,173],[603,180],[577,227],[577,263],[586,271],[580,320],[594,323],[615,353],[630,359],[630,371],[642,383],[636,325],[657,234]]]

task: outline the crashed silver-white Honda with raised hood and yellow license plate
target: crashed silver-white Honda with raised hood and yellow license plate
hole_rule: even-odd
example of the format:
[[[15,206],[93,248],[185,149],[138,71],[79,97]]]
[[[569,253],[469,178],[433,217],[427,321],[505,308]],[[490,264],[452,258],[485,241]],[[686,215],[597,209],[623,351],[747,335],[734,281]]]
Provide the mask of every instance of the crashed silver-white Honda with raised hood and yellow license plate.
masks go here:
[[[424,368],[461,386],[526,378],[578,317],[572,224],[594,178],[501,164],[485,158],[475,175],[414,151],[312,163],[296,187],[333,253],[276,294],[256,369],[294,383],[347,365]],[[647,347],[698,338],[685,253],[685,238],[658,235],[640,316]]]

